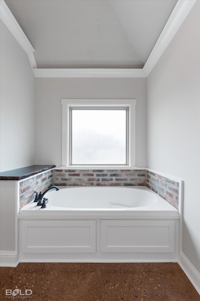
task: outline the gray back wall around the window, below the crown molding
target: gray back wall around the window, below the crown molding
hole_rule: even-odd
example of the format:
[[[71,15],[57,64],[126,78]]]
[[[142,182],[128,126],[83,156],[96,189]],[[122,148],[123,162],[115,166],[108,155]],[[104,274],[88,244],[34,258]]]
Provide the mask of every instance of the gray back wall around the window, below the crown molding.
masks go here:
[[[136,165],[146,166],[145,78],[37,78],[35,164],[62,165],[62,98],[137,99]]]

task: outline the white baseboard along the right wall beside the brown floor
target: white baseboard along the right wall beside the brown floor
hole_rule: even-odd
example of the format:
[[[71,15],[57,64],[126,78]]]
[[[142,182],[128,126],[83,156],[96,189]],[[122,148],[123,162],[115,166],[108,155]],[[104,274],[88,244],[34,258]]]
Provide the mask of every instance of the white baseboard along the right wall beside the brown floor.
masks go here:
[[[196,288],[200,295],[200,273],[189,261],[189,259],[181,252],[180,262],[178,262],[183,272],[186,274],[187,278],[191,281],[193,286]]]

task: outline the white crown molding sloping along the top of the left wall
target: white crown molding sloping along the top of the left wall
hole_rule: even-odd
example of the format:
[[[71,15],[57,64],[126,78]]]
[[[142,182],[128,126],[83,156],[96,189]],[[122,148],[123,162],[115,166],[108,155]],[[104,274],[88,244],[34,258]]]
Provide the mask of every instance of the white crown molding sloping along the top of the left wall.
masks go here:
[[[0,18],[26,54],[31,56],[33,61],[34,57],[32,53],[35,52],[35,49],[32,47],[31,43],[27,39],[27,36],[24,34],[4,0],[0,0]],[[36,63],[33,65],[31,64],[31,67],[36,67]]]

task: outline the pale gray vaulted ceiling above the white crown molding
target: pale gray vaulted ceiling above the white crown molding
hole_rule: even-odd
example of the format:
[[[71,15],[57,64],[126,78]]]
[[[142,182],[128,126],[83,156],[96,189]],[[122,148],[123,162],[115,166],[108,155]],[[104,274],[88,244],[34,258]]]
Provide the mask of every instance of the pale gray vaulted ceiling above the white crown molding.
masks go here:
[[[5,0],[38,68],[143,68],[177,0]]]

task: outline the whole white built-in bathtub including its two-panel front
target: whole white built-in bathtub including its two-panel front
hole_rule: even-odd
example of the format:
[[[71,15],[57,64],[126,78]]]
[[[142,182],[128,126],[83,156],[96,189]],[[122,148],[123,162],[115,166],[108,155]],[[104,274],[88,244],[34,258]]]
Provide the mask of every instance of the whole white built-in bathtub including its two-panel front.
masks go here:
[[[178,260],[178,210],[146,186],[61,186],[45,197],[47,208],[18,212],[19,262]]]

